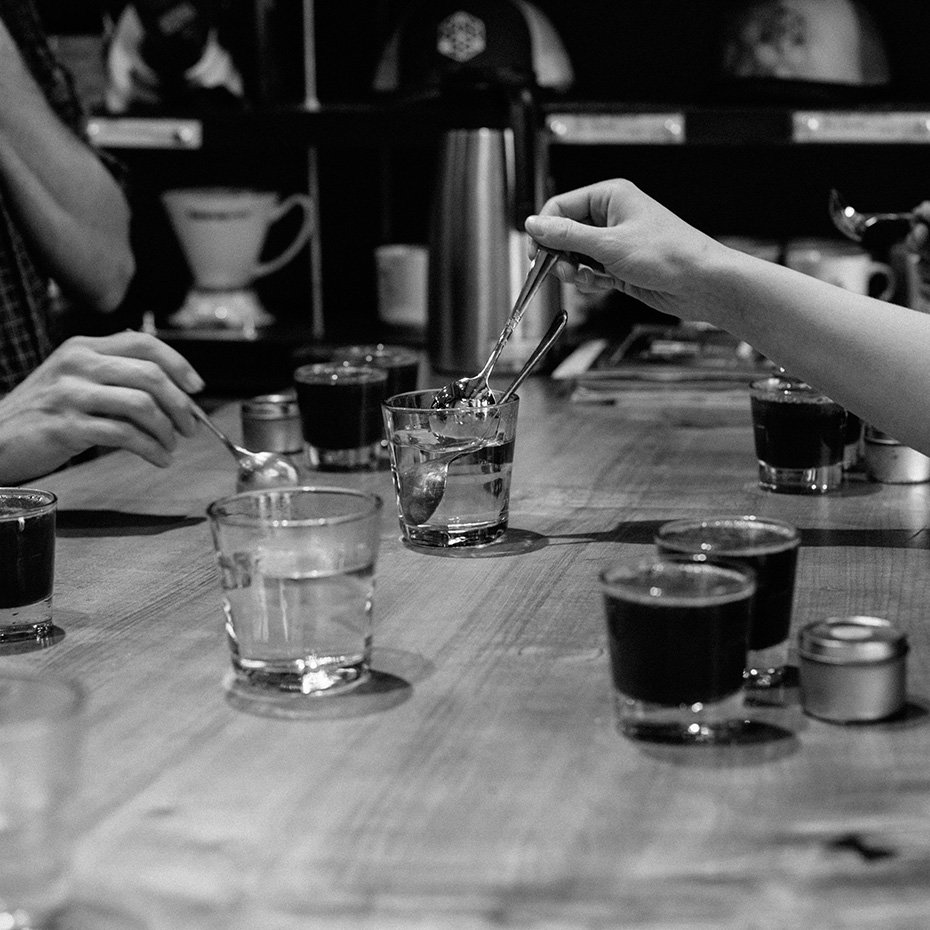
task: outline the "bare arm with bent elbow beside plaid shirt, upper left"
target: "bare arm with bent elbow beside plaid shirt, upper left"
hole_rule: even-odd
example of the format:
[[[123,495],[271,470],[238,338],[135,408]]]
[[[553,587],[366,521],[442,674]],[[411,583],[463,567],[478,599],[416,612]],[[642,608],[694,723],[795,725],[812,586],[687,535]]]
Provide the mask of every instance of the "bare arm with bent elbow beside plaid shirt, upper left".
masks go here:
[[[51,108],[2,21],[0,182],[49,276],[88,306],[115,309],[135,270],[129,207]]]

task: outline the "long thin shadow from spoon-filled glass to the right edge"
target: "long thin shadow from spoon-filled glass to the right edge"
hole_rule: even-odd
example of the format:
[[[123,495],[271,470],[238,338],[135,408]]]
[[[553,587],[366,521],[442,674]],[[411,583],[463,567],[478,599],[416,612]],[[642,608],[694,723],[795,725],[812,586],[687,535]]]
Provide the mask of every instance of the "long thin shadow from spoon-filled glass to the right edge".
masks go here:
[[[605,542],[650,545],[656,531],[668,520],[628,520],[608,530],[592,533],[553,533],[546,535],[532,530],[508,529],[496,543],[484,549],[463,550],[470,558],[494,558],[535,552],[546,546],[567,546],[575,543]],[[853,546],[873,549],[930,549],[930,528],[922,529],[824,529],[801,528],[801,545],[809,548]],[[448,555],[455,550],[439,550]]]

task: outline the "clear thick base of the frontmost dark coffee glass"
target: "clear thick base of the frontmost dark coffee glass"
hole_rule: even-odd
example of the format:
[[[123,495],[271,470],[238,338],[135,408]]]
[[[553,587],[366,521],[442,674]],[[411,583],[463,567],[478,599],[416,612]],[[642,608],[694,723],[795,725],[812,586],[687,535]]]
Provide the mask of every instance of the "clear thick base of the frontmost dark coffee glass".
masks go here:
[[[667,706],[614,692],[617,729],[630,739],[672,745],[737,742],[746,727],[743,692],[719,701]]]

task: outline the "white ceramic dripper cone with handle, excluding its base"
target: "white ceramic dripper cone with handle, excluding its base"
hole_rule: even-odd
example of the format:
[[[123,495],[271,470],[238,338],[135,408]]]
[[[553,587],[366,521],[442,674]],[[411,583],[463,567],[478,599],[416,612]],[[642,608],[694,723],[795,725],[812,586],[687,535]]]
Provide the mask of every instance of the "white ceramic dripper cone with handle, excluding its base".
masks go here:
[[[313,231],[313,201],[291,194],[236,187],[176,188],[162,203],[190,265],[196,287],[210,291],[247,288],[291,261]],[[294,208],[304,217],[279,255],[259,261],[268,230]]]

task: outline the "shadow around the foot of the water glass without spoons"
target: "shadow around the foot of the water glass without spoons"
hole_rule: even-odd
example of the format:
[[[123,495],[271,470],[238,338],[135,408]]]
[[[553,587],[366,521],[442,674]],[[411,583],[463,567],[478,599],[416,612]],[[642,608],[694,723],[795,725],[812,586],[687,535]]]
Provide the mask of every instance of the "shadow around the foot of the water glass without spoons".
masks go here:
[[[433,674],[428,659],[400,649],[376,649],[368,680],[342,694],[317,697],[280,694],[256,696],[230,672],[225,681],[226,703],[235,710],[275,720],[345,720],[392,710],[413,694],[413,686]]]

